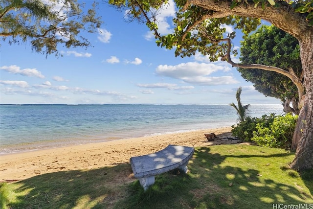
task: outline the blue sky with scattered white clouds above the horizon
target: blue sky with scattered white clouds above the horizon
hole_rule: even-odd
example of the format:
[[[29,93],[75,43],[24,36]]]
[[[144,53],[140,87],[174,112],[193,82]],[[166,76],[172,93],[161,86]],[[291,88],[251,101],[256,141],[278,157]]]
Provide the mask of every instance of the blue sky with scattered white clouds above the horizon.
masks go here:
[[[170,0],[159,14],[161,34],[173,30],[175,11]],[[98,33],[85,36],[92,46],[59,46],[62,57],[32,52],[29,43],[1,40],[0,104],[236,104],[240,86],[244,104],[281,103],[254,90],[226,62],[210,62],[199,53],[175,57],[174,49],[156,46],[145,24],[129,23],[123,12],[103,2],[97,14],[104,23]],[[240,41],[237,32],[235,48]],[[233,61],[239,62],[238,56]]]

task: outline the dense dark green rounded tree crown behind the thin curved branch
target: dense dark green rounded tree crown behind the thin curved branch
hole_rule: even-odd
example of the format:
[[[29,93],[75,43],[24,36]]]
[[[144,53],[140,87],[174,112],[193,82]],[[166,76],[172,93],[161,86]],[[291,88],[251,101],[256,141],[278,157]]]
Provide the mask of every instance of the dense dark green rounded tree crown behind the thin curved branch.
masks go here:
[[[241,43],[242,64],[258,63],[289,70],[302,80],[302,65],[298,40],[271,25],[262,25]],[[266,96],[299,100],[296,86],[291,79],[273,71],[238,68],[241,76],[253,83],[254,88]],[[297,105],[293,105],[296,108]]]

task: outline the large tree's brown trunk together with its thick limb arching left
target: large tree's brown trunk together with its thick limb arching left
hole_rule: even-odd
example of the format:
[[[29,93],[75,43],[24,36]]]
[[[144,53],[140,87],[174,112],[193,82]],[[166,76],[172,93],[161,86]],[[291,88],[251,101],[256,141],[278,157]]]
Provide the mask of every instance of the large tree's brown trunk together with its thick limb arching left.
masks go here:
[[[293,147],[297,147],[297,149],[291,168],[299,171],[313,169],[313,26],[308,25],[305,17],[295,12],[290,5],[281,4],[277,8],[262,8],[261,6],[254,8],[253,1],[248,2],[248,4],[241,4],[230,9],[231,1],[188,0],[184,9],[193,4],[214,11],[208,18],[222,18],[229,15],[261,18],[298,39],[304,73],[305,98],[299,95],[299,107],[304,108],[300,110],[300,119],[296,126],[298,133],[292,139],[294,142]],[[279,1],[275,3],[279,3]],[[303,118],[305,118],[304,121],[301,120]],[[298,140],[299,131],[302,131],[300,140]],[[297,141],[298,145],[295,146]]]

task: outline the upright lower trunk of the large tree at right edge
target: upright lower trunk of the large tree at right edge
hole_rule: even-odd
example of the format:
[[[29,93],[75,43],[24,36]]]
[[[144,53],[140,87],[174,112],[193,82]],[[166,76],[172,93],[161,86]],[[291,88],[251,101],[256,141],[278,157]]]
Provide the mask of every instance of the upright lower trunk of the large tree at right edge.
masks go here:
[[[306,94],[292,138],[291,147],[297,149],[291,168],[301,171],[313,169],[313,31],[304,33],[299,44]]]

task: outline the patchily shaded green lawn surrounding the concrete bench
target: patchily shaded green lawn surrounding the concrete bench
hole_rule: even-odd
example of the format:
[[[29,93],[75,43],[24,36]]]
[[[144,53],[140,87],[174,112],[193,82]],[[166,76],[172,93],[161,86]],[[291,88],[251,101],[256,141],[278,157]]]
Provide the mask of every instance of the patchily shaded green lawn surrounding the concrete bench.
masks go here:
[[[130,164],[120,164],[1,184],[0,201],[10,209],[271,209],[272,204],[313,204],[313,170],[298,174],[289,169],[293,158],[286,150],[259,146],[197,147],[188,174],[174,170],[157,175],[147,191],[132,176]]]

